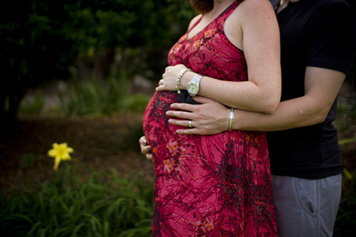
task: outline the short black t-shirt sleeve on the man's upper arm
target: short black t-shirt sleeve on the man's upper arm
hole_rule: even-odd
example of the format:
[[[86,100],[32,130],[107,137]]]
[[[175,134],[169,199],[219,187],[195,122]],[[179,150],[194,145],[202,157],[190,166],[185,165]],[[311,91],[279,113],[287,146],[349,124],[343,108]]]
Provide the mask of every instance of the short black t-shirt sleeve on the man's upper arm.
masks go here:
[[[307,65],[347,74],[356,47],[352,9],[342,2],[330,4],[315,16],[311,31]]]

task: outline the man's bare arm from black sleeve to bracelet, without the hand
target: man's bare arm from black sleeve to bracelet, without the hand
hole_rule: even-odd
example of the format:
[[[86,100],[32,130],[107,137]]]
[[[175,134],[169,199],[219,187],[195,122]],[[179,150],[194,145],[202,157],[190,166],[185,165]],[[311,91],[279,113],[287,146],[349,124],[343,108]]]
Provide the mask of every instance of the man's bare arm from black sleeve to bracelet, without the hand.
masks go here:
[[[278,131],[324,122],[337,97],[345,73],[307,67],[305,95],[279,104],[273,115],[236,111],[236,130]]]

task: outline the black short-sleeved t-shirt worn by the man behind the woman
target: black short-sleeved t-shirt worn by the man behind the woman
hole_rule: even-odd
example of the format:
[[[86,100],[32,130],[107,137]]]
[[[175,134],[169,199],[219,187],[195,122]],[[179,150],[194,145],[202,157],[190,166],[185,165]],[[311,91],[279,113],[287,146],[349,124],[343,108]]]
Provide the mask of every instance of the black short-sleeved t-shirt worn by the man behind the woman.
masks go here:
[[[281,30],[281,100],[302,97],[305,68],[348,73],[356,43],[352,9],[343,0],[289,2],[277,15]],[[319,179],[342,172],[336,101],[325,122],[267,132],[272,174]]]

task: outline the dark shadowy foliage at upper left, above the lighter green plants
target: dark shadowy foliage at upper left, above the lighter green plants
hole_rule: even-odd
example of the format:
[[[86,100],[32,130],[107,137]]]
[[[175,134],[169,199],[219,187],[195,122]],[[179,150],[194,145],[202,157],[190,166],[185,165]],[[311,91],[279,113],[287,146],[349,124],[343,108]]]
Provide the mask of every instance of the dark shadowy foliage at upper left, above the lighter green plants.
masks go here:
[[[159,77],[169,46],[193,14],[188,1],[177,0],[6,1],[1,117],[14,122],[28,90],[51,80],[104,79],[122,70]]]

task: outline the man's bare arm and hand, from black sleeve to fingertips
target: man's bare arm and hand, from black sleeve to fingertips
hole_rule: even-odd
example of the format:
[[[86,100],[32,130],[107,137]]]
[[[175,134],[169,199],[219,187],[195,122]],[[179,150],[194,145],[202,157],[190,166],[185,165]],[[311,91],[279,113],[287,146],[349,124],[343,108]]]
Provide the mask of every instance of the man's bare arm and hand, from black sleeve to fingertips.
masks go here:
[[[245,110],[235,110],[234,130],[277,131],[304,127],[323,122],[340,90],[345,73],[326,68],[307,67],[305,70],[305,95],[286,100],[271,115]],[[192,120],[194,129],[177,130],[179,134],[209,135],[228,130],[229,109],[206,98],[197,98],[202,105],[173,104],[169,117],[172,125],[188,127]]]

